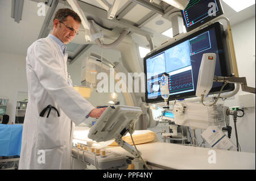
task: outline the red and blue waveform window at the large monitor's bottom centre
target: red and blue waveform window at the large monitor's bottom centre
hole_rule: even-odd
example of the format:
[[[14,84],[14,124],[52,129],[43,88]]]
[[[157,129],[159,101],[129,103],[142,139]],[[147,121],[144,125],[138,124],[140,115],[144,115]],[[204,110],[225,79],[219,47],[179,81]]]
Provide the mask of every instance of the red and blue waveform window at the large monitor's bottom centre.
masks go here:
[[[191,70],[183,73],[171,75],[169,77],[169,91],[170,94],[177,91],[185,91],[193,89],[193,78]]]

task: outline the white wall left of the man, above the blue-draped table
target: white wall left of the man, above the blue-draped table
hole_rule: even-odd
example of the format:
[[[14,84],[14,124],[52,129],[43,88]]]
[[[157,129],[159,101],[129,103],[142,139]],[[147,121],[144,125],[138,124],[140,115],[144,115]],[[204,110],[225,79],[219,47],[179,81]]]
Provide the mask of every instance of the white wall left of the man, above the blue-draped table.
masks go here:
[[[15,123],[18,92],[27,92],[26,57],[0,52],[0,98],[9,99],[9,124]]]

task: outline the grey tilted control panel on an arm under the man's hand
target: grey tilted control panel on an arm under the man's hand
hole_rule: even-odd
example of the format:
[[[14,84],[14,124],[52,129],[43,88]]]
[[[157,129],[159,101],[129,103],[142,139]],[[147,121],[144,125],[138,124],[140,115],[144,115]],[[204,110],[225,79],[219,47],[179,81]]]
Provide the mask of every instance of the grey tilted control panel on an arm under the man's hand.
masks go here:
[[[141,113],[142,110],[139,107],[110,106],[90,128],[88,137],[97,142],[114,139],[119,146],[138,158],[140,153],[138,154],[133,146],[123,141],[122,137],[130,131],[130,128],[132,128],[131,132],[134,132]]]

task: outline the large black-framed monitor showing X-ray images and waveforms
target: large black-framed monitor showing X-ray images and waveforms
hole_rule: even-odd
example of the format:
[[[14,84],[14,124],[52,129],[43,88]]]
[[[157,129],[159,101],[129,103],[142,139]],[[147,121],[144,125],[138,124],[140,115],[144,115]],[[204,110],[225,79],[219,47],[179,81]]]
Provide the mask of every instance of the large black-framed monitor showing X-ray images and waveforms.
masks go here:
[[[204,53],[216,53],[214,75],[232,76],[226,52],[223,26],[216,22],[144,57],[146,102],[163,102],[160,78],[164,73],[168,74],[169,100],[196,96],[197,79]],[[222,85],[221,82],[213,82],[209,94],[219,92]],[[223,91],[232,90],[234,85],[229,83]]]

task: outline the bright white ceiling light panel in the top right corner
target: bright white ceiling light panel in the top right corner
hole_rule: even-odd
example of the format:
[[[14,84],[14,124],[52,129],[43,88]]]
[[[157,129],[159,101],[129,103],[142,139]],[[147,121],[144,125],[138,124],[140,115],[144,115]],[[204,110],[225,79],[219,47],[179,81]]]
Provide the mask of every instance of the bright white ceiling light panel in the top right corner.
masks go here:
[[[255,0],[246,0],[246,1],[223,0],[223,1],[237,12],[242,11],[242,10],[246,9],[247,7],[250,7],[255,4]]]

